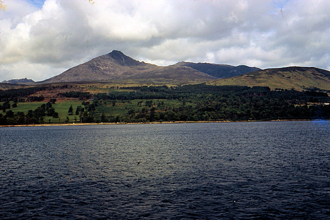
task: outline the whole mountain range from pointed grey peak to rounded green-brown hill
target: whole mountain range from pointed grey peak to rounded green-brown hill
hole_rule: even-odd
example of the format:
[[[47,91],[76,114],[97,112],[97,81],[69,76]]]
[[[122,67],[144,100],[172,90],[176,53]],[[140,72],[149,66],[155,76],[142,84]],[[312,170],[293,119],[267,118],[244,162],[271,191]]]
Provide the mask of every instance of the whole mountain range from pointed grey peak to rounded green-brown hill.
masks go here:
[[[236,76],[231,77],[235,74]],[[262,70],[247,66],[233,67],[230,65],[189,62],[179,62],[175,65],[161,67],[134,60],[121,51],[112,51],[36,84],[69,82],[106,82],[123,85],[206,83],[210,85],[268,86],[271,89],[294,88],[303,90],[316,87],[330,90],[330,72],[314,67],[286,67]]]

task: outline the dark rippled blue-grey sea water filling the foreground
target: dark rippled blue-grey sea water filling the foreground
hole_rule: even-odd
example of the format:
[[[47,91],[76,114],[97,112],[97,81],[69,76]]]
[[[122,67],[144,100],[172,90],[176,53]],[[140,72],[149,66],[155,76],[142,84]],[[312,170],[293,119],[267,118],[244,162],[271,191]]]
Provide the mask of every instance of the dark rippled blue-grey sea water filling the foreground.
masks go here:
[[[0,219],[330,219],[330,121],[0,128]]]

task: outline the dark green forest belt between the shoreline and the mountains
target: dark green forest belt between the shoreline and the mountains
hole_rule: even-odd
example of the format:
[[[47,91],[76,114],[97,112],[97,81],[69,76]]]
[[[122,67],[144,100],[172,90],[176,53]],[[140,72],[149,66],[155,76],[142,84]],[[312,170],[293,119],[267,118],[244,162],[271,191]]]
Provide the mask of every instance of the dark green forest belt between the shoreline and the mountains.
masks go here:
[[[42,91],[44,88],[35,88]],[[33,102],[29,96],[14,89],[2,91],[0,125],[48,123],[45,116],[56,118],[58,113],[51,104],[24,112],[11,111],[17,102]],[[136,86],[113,89],[108,93],[91,94],[71,91],[58,93],[59,98],[81,100],[72,104],[63,122],[167,122],[167,121],[248,121],[248,120],[301,120],[330,119],[330,97],[327,92],[311,88],[308,91],[270,90],[268,87],[183,85]],[[36,99],[36,98],[34,98]],[[40,98],[39,98],[40,99]],[[14,102],[10,106],[10,101]],[[70,102],[67,100],[66,102]],[[50,121],[50,120],[49,120]]]

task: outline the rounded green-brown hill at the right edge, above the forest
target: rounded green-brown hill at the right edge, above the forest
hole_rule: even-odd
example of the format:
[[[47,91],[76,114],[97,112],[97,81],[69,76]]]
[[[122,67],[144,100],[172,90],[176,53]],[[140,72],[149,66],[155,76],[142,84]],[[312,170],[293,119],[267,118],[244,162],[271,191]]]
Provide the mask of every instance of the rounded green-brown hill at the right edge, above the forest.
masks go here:
[[[330,71],[314,67],[269,68],[227,79],[210,81],[209,85],[268,86],[271,89],[302,90],[308,87],[330,90]]]

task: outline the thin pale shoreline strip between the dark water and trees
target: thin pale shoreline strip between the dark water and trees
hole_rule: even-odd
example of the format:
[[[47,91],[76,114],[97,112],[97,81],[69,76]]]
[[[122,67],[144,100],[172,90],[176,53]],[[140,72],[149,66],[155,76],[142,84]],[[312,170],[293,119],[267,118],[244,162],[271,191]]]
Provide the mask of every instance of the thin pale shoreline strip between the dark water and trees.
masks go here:
[[[318,121],[321,119],[277,119],[277,120],[240,120],[240,121],[165,121],[165,122],[100,122],[100,123],[53,123],[53,124],[16,124],[0,125],[0,127],[40,127],[40,126],[76,126],[76,125],[115,125],[115,124],[190,124],[190,123],[229,123],[229,122],[265,122],[265,121]],[[322,119],[329,120],[329,119]]]

